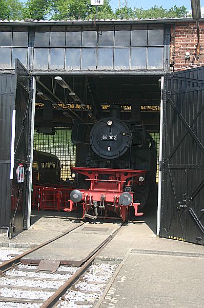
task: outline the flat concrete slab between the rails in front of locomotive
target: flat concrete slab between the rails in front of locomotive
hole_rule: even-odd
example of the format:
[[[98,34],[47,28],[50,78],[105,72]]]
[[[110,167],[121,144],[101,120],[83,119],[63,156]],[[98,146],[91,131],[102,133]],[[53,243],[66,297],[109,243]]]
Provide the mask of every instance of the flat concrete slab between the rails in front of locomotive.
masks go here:
[[[120,227],[118,223],[84,224],[54,242],[21,259],[23,264],[39,264],[41,260],[59,260],[61,265],[80,266],[103,246]]]

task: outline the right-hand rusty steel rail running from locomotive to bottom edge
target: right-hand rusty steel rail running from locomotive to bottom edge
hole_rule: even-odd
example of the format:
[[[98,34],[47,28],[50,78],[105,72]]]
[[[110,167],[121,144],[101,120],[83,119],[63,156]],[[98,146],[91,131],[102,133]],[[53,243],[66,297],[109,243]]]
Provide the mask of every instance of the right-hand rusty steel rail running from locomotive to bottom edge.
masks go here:
[[[51,308],[53,305],[56,304],[58,301],[59,297],[64,295],[65,292],[68,290],[68,288],[86,271],[87,267],[93,262],[97,254],[104,248],[105,245],[107,245],[113,238],[114,236],[119,232],[120,228],[124,225],[122,223],[120,227],[112,234],[112,237],[109,238],[103,246],[100,246],[97,251],[78,269],[76,273],[72,277],[70,277],[62,286],[58,288],[58,290],[51,296],[49,297],[40,308]]]

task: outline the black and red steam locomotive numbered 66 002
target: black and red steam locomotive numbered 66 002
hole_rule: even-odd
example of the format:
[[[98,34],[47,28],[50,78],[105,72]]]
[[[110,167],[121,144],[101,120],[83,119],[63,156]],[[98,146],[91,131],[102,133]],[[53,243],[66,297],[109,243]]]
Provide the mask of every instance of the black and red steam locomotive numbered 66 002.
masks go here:
[[[110,116],[87,125],[77,119],[72,142],[77,144],[72,167],[75,189],[68,208],[83,206],[83,218],[121,217],[127,220],[130,207],[141,216],[149,188],[155,184],[157,152],[155,141],[140,123],[121,121],[120,107]]]

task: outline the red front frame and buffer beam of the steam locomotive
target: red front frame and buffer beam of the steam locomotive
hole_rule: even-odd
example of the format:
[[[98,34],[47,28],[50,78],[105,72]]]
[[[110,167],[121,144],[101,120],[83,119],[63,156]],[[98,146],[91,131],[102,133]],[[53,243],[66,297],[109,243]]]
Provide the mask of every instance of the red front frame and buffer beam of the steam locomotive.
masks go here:
[[[86,168],[86,167],[72,167],[72,172],[86,176],[87,181],[90,181],[89,189],[79,189],[82,194],[80,204],[83,205],[83,218],[89,217],[96,219],[97,216],[89,215],[89,211],[93,210],[94,204],[100,205],[97,211],[104,211],[104,216],[98,215],[98,217],[108,217],[108,210],[111,210],[121,217],[123,221],[126,221],[126,209],[127,207],[134,207],[135,216],[142,216],[144,213],[138,212],[138,206],[140,203],[133,202],[134,192],[127,192],[132,196],[132,202],[129,205],[123,205],[119,202],[119,197],[124,194],[124,184],[128,178],[132,178],[128,181],[126,187],[131,187],[131,182],[138,183],[138,178],[146,174],[146,170],[132,170],[132,169],[109,169],[109,168]],[[108,179],[104,179],[104,176]],[[95,203],[94,203],[95,201]],[[72,211],[74,209],[75,202],[69,200],[69,208],[65,208],[65,211]]]

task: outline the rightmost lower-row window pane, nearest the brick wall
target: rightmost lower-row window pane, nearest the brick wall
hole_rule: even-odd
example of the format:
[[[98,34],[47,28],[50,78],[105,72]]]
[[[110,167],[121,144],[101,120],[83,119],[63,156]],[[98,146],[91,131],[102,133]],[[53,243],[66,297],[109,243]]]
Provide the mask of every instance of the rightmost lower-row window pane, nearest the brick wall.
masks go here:
[[[164,48],[150,47],[148,48],[147,69],[163,69],[164,68]]]

